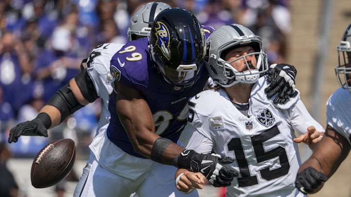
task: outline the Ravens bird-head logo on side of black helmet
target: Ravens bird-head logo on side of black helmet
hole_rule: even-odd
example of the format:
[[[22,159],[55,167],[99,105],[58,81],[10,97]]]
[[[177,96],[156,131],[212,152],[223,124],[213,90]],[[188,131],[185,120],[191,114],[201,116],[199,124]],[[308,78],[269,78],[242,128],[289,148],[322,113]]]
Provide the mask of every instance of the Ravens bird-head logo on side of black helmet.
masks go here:
[[[159,47],[164,54],[164,56],[170,60],[171,53],[170,53],[170,34],[163,22],[157,21],[158,27],[156,28],[156,37],[157,42],[155,47]]]

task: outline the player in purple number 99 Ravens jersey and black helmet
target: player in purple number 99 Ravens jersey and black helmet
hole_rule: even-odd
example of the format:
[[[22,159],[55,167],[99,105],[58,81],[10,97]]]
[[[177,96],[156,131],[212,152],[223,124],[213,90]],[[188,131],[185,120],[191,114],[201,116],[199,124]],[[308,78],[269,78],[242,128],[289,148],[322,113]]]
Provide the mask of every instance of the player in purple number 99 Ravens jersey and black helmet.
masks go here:
[[[143,197],[184,196],[174,185],[176,167],[200,172],[219,187],[237,176],[224,165],[232,158],[177,145],[187,123],[188,99],[203,90],[209,77],[202,66],[205,39],[192,13],[169,8],[157,15],[149,38],[128,42],[112,57],[110,124],[90,144],[95,160],[82,196],[126,196],[130,191]]]

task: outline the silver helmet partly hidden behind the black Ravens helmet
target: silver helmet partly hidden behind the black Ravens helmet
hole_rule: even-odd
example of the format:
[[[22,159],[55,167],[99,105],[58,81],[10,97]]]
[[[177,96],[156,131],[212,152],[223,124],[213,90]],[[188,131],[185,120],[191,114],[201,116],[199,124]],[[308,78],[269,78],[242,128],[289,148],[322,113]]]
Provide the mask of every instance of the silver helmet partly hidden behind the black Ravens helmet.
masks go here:
[[[127,31],[129,41],[137,39],[137,36],[147,37],[158,13],[170,7],[166,3],[154,1],[141,6],[131,18]]]

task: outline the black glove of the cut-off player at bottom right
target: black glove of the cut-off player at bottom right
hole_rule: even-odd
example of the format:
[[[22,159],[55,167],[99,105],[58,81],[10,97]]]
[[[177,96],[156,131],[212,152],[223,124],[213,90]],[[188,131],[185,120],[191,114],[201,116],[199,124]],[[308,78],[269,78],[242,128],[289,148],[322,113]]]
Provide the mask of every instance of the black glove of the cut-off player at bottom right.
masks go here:
[[[328,177],[313,167],[308,167],[297,174],[295,187],[304,194],[313,193]]]

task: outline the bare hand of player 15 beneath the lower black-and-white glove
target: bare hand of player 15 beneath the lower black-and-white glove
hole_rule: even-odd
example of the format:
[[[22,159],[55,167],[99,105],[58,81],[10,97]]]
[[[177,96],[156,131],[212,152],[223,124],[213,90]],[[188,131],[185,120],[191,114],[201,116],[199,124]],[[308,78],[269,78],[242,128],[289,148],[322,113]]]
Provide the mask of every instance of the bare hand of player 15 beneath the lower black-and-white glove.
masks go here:
[[[176,188],[182,193],[190,193],[194,189],[202,189],[206,177],[199,172],[179,169],[176,173]]]

